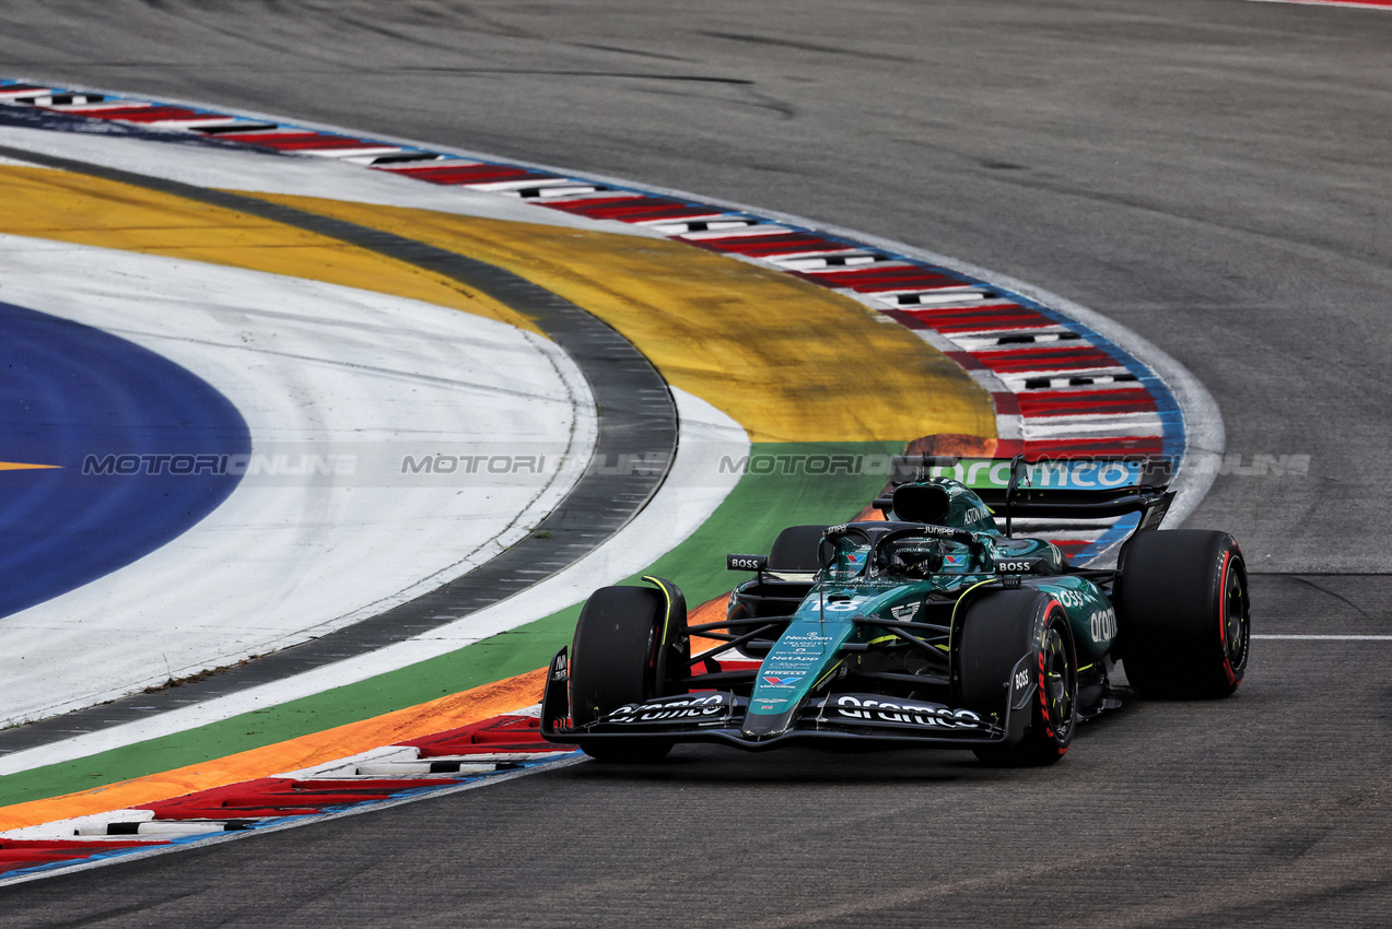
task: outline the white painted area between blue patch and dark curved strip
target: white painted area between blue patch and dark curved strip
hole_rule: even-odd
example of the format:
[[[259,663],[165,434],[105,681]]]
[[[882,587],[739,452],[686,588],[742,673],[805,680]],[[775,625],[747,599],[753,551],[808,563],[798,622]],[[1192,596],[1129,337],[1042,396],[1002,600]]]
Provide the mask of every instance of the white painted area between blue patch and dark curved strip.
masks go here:
[[[511,325],[42,239],[0,236],[0,299],[193,371],[241,410],[253,452],[358,456],[351,476],[249,476],[161,549],[0,619],[0,723],[120,697],[405,602],[521,538],[593,451],[593,399],[579,370]],[[482,441],[544,452],[547,473],[491,484],[400,474],[405,452]],[[562,456],[568,466],[554,467]]]

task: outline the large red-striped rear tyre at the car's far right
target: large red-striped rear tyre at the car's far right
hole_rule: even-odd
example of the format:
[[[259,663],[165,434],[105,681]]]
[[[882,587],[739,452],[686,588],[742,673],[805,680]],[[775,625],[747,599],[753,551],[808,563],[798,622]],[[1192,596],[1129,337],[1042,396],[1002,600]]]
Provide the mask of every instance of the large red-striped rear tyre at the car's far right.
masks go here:
[[[1141,533],[1126,545],[1116,583],[1126,680],[1144,697],[1228,697],[1247,670],[1247,569],[1232,535]]]

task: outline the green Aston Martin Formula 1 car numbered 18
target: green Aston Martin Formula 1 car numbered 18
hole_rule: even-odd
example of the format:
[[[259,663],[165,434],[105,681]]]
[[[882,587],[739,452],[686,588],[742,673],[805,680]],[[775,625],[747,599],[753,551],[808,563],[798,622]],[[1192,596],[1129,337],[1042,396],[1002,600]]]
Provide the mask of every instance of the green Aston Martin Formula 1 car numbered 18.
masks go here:
[[[543,736],[615,762],[707,741],[931,745],[1044,765],[1129,693],[1237,688],[1242,552],[1225,533],[1160,528],[1168,463],[901,458],[895,476],[876,501],[883,520],[793,526],[768,555],[728,555],[753,576],[722,620],[689,624],[661,577],[596,591],[551,662]],[[1090,517],[1121,517],[1114,570],[1012,533],[1016,520]],[[693,655],[693,640],[707,647]],[[1111,680],[1118,662],[1126,688]]]

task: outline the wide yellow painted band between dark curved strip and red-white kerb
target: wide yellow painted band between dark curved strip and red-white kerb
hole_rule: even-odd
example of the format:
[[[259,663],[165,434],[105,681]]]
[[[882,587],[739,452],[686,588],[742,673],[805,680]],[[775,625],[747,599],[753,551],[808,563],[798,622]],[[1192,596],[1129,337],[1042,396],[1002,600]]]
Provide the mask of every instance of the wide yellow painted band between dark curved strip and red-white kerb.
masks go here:
[[[909,330],[791,275],[681,242],[251,195],[427,242],[589,310],[754,441],[994,437],[990,395]]]

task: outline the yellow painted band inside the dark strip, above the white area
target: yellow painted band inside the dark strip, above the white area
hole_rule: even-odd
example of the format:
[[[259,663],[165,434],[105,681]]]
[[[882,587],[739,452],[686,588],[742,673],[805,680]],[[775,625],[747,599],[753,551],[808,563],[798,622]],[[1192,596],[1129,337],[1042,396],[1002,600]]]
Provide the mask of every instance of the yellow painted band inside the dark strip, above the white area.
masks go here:
[[[539,331],[405,261],[245,213],[67,171],[0,165],[0,232],[269,271],[404,296]]]

